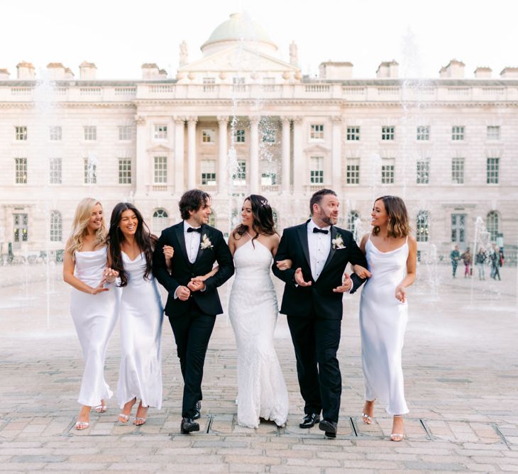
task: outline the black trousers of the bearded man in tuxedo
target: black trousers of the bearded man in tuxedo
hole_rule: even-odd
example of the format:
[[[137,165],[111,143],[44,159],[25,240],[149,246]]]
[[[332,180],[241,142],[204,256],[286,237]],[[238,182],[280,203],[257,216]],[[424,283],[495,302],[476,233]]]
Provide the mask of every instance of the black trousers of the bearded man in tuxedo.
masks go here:
[[[320,414],[338,422],[342,377],[336,358],[340,343],[341,320],[287,316],[292,335],[300,394],[304,413]]]

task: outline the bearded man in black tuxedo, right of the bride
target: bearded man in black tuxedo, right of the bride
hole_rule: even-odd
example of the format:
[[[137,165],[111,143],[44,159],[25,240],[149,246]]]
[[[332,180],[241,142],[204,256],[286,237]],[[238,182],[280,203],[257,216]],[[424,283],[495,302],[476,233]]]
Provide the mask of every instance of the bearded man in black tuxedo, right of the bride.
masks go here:
[[[365,281],[355,273],[344,279],[343,273],[349,262],[367,268],[353,234],[334,225],[338,205],[331,189],[315,192],[309,202],[312,219],[285,229],[272,265],[275,275],[286,283],[280,312],[287,315],[304,398],[305,416],[299,426],[311,428],[319,423],[330,438],[336,437],[342,392],[336,358],[342,297]],[[292,268],[280,270],[277,262],[285,259],[292,260]]]

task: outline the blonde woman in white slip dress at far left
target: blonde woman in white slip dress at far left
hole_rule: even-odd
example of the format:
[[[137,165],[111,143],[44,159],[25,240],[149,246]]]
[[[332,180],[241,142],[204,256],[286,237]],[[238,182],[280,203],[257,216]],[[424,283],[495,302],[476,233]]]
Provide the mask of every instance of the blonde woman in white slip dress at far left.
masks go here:
[[[85,198],[77,205],[63,262],[63,280],[73,287],[70,312],[84,355],[76,429],[89,427],[91,407],[106,412],[106,399],[113,395],[104,380],[104,357],[119,312],[117,291],[105,287],[117,276],[106,267],[106,248],[101,203]]]

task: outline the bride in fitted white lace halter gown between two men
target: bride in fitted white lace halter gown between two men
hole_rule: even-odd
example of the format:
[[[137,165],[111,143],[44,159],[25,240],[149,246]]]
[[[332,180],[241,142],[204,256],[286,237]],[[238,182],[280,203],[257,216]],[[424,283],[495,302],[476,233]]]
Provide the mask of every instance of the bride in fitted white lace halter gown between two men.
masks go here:
[[[237,346],[238,424],[257,428],[263,418],[284,426],[288,393],[273,343],[278,309],[270,277],[280,238],[264,197],[247,197],[241,218],[228,241],[236,265],[228,314]]]

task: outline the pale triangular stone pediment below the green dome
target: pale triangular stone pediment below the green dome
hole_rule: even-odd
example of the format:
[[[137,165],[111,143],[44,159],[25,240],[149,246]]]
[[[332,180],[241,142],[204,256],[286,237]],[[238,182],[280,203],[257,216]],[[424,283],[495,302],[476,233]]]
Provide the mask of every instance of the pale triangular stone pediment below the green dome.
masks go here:
[[[297,72],[298,67],[276,57],[240,46],[231,46],[213,55],[202,57],[178,69],[178,72]]]

